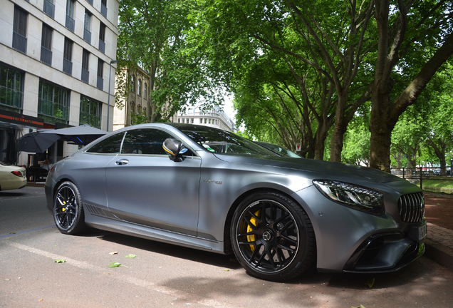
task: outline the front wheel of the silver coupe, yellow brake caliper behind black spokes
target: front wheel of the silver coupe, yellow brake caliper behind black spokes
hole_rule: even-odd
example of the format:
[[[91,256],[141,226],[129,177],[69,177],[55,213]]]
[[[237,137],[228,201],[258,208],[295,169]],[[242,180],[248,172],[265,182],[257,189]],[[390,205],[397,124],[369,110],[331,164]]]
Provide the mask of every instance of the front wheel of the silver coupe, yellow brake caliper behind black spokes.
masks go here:
[[[283,282],[316,261],[313,225],[303,208],[279,193],[246,197],[231,222],[234,255],[251,276]]]

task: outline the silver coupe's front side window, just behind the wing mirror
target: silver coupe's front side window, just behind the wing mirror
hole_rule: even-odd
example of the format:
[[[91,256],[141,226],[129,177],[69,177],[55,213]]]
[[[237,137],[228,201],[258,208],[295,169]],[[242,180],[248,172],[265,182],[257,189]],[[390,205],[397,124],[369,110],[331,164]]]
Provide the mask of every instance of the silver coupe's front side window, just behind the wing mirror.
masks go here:
[[[163,130],[152,128],[129,130],[124,138],[121,153],[167,155],[162,148],[162,143],[167,138],[173,136]]]

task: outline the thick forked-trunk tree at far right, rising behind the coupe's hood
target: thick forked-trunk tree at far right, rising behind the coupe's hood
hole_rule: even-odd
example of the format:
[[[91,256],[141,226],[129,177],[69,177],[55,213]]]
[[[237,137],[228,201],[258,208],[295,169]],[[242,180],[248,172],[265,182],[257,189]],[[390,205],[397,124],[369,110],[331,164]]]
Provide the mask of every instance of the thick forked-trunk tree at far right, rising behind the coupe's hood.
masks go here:
[[[390,172],[393,128],[452,56],[452,9],[446,0],[375,0],[378,46],[371,90],[371,167]],[[400,84],[395,86],[395,81]]]

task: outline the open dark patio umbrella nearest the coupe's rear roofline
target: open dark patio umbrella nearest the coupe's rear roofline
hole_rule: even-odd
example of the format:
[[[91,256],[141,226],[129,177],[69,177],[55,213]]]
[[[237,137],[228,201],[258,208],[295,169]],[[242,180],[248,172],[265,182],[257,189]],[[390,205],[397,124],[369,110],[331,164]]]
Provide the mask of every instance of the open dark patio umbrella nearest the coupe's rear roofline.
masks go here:
[[[70,128],[61,128],[58,130],[47,130],[43,134],[58,134],[62,140],[66,140],[78,145],[87,145],[93,140],[102,137],[107,132],[99,128],[93,128],[89,125],[74,126]]]

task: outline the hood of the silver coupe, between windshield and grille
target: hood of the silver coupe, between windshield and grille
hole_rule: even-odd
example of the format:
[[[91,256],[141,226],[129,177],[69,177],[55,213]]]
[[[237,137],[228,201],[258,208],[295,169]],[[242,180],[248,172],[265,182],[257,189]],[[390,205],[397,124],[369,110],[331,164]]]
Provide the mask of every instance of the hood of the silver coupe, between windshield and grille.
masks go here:
[[[313,160],[306,158],[281,158],[273,156],[251,156],[251,155],[222,155],[214,154],[217,158],[230,163],[244,163],[251,165],[266,165],[269,167],[300,170],[308,178],[342,180],[348,178],[355,181],[372,181],[376,183],[387,183],[402,180],[395,175],[382,172],[377,169],[361,167],[358,165],[346,165],[344,163],[332,163],[324,160]]]

